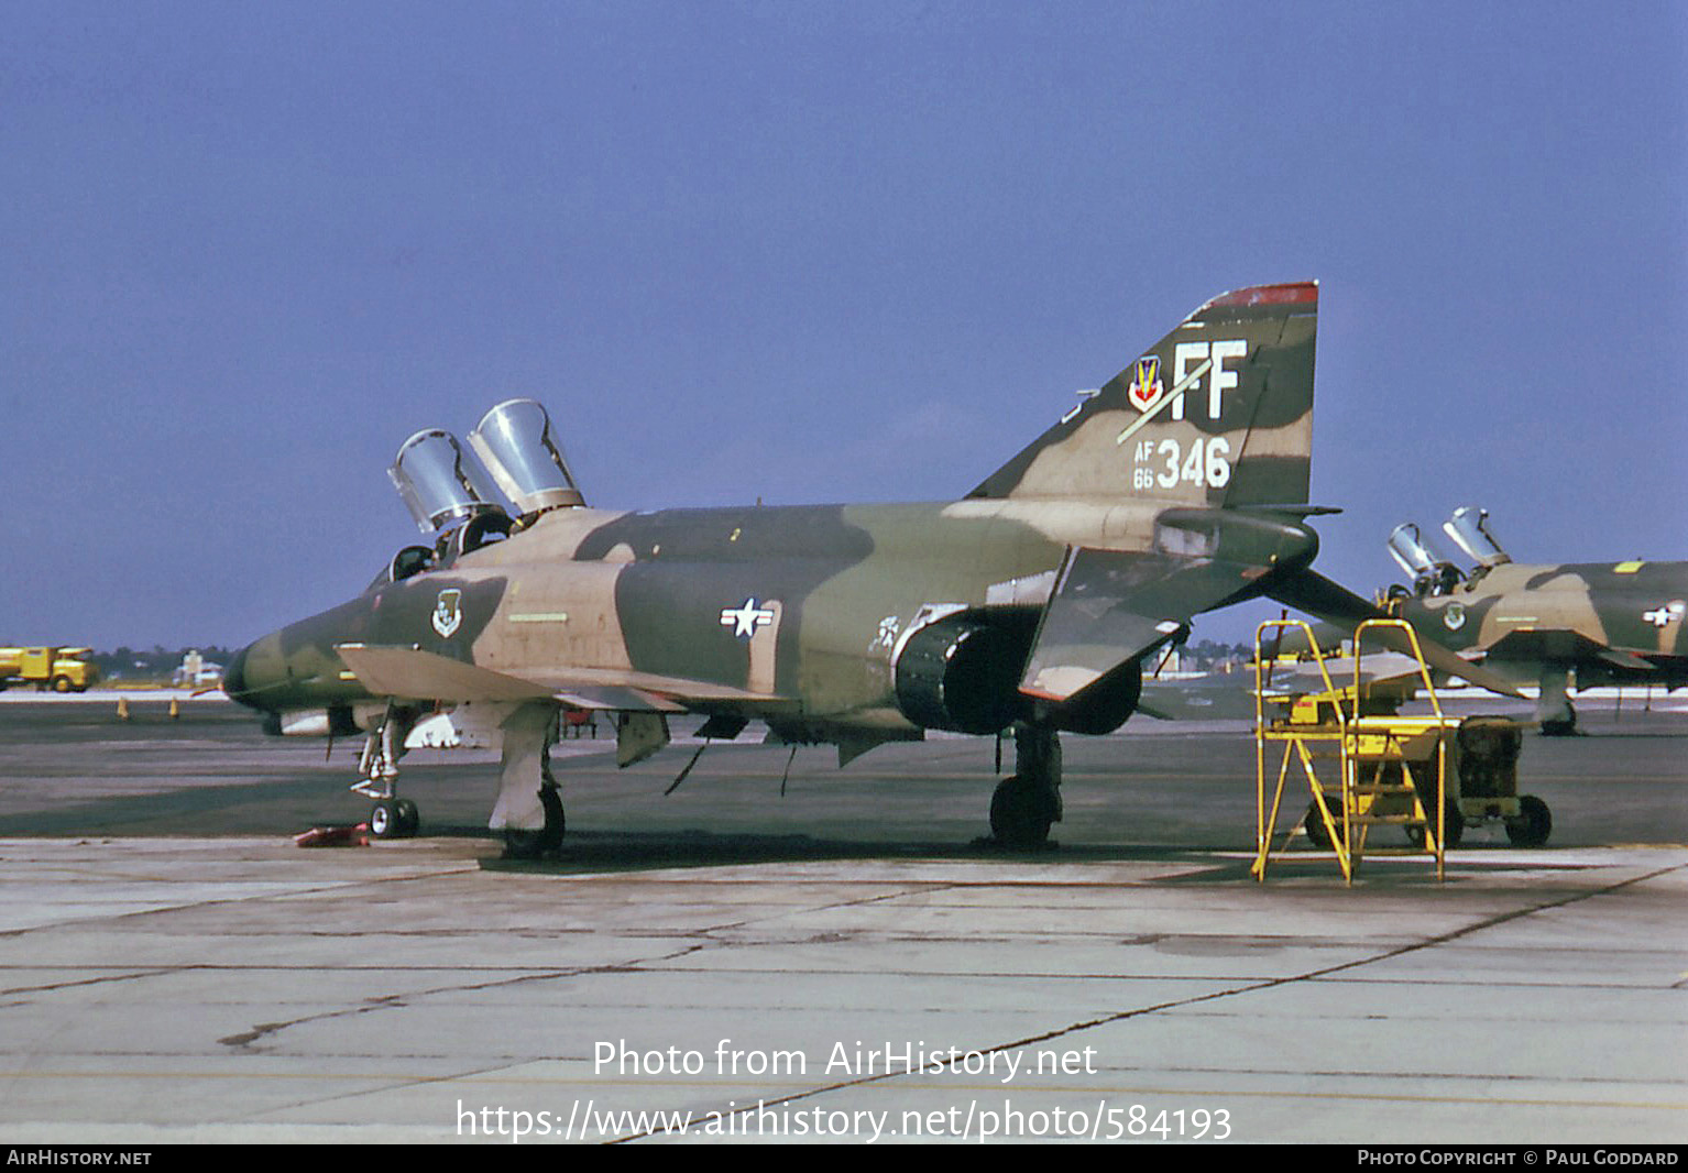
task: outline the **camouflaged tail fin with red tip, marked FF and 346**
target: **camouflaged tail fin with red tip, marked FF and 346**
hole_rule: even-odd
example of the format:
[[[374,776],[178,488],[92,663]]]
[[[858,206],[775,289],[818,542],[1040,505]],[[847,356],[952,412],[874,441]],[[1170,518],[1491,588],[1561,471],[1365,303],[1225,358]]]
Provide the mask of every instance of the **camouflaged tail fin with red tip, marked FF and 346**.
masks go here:
[[[1305,505],[1318,282],[1215,297],[974,498]]]

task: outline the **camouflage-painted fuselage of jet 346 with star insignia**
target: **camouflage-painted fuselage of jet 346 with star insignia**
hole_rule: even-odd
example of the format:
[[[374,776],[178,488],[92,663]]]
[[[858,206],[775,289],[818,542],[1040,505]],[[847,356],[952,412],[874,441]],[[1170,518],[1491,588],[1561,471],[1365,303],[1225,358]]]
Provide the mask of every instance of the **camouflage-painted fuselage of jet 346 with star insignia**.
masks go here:
[[[376,586],[265,636],[231,665],[231,684],[279,711],[373,700],[336,651],[366,643],[415,646],[562,692],[636,685],[704,712],[908,727],[893,662],[922,618],[979,614],[1030,645],[1070,545],[1163,560],[1153,552],[1158,533],[1161,543],[1188,535],[1158,525],[1163,513],[1143,503],[996,500],[560,510],[451,569]],[[1312,557],[1300,527],[1249,537],[1280,542],[1251,552],[1261,562]],[[1234,592],[1261,577],[1215,574],[1232,574]]]

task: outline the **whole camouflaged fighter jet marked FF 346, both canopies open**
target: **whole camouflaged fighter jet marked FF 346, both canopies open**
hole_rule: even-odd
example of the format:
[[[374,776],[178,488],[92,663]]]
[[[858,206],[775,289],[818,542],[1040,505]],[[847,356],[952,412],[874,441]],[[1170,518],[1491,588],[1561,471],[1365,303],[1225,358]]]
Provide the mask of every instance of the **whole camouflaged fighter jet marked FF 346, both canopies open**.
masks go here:
[[[230,697],[272,731],[366,731],[358,787],[376,834],[415,827],[393,778],[408,729],[451,707],[501,736],[491,827],[547,851],[564,810],[547,763],[559,711],[616,714],[618,761],[761,721],[839,763],[927,729],[1013,729],[994,837],[1062,815],[1060,734],[1106,734],[1141,663],[1197,613],[1271,596],[1352,613],[1308,569],[1318,285],[1215,297],[959,501],[587,508],[533,400],[469,441],[419,432],[392,474],[432,545],[356,599],[240,651]],[[1458,665],[1458,660],[1448,657]]]

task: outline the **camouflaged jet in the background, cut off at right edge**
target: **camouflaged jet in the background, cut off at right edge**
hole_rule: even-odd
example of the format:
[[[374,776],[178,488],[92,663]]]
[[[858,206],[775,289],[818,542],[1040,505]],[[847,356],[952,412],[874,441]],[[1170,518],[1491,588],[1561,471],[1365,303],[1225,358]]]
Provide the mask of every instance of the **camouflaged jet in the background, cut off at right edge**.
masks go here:
[[[1521,565],[1489,535],[1487,510],[1455,510],[1442,530],[1475,564],[1438,559],[1416,525],[1389,535],[1389,555],[1413,586],[1389,596],[1423,636],[1501,675],[1541,687],[1536,721],[1546,734],[1577,727],[1570,678],[1600,684],[1688,685],[1688,562]]]

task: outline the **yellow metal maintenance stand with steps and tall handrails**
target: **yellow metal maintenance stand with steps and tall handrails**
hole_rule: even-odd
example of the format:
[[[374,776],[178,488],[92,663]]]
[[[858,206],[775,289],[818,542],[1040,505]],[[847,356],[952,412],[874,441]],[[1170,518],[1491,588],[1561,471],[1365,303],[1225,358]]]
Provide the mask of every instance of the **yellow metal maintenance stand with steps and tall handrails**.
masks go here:
[[[1266,633],[1274,631],[1281,646],[1283,631],[1300,628],[1307,636],[1318,684],[1296,695],[1268,697],[1268,675],[1274,657],[1264,653]],[[1416,662],[1418,682],[1430,697],[1433,716],[1403,717],[1394,712],[1399,699],[1369,689],[1361,673],[1362,645],[1369,633],[1391,631],[1396,648],[1409,648]],[[1264,883],[1273,856],[1278,812],[1296,759],[1313,795],[1308,812],[1308,835],[1337,854],[1337,866],[1349,884],[1366,852],[1366,834],[1379,824],[1403,827],[1415,844],[1413,854],[1436,861],[1436,879],[1443,874],[1443,849],[1450,835],[1458,835],[1460,812],[1448,803],[1448,744],[1458,736],[1460,721],[1445,717],[1430,670],[1411,624],[1401,619],[1367,619],[1354,631],[1354,685],[1337,687],[1325,657],[1307,623],[1269,619],[1254,633],[1254,781],[1256,781],[1256,857],[1249,869]],[[1283,744],[1276,768],[1276,790],[1266,802],[1268,746]],[[1334,780],[1320,780],[1318,763],[1337,763]],[[1327,770],[1327,775],[1330,771]],[[1426,812],[1426,805],[1433,814]],[[1448,825],[1452,817],[1455,825]],[[1323,834],[1320,834],[1323,832]],[[1290,832],[1293,834],[1293,832]],[[1280,846],[1280,854],[1288,846]]]

